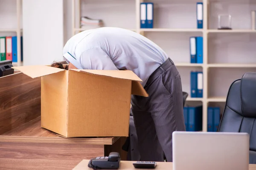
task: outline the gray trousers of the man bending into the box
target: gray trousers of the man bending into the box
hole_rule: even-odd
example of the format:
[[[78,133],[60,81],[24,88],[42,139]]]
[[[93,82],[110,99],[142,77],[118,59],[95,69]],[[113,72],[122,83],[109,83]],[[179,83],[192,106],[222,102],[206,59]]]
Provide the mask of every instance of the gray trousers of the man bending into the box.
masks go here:
[[[172,132],[186,131],[180,74],[171,59],[151,74],[144,88],[148,97],[131,98],[140,161],[164,161],[164,152],[170,162]],[[130,129],[131,140],[132,133]]]

